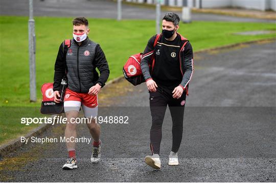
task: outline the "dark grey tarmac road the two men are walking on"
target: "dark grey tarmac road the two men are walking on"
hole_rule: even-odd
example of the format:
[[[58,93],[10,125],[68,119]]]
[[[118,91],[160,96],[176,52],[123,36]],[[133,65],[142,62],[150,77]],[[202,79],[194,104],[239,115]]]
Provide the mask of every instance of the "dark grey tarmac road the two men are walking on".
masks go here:
[[[168,166],[169,112],[163,124],[162,169],[144,163],[150,154],[151,117],[146,86],[126,81],[100,94],[99,116],[128,116],[128,124],[102,124],[102,160],[77,143],[78,169],[62,170],[65,143],[30,143],[0,162],[1,181],[276,181],[276,42],[195,55],[186,103],[179,166]],[[63,136],[56,125],[42,137]],[[90,138],[84,124],[78,137]]]

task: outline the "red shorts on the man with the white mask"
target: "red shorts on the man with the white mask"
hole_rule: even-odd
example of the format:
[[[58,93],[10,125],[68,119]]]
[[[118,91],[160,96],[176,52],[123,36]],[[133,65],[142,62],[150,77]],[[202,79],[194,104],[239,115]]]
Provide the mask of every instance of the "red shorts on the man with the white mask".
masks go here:
[[[80,101],[88,108],[95,108],[98,106],[97,95],[89,95],[88,93],[78,93],[66,88],[64,101]]]

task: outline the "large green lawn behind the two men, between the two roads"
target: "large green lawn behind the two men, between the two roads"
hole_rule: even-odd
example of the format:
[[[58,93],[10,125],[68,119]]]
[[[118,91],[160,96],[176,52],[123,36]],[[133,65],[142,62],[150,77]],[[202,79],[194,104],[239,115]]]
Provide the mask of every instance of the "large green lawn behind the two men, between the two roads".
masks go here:
[[[40,87],[53,82],[54,64],[60,43],[72,38],[72,18],[35,17],[36,85],[38,100],[29,101],[28,17],[1,16],[1,137],[15,138],[36,125],[20,124],[19,114],[3,107],[40,106]],[[110,68],[109,80],[122,76],[122,67],[132,54],[143,52],[148,39],[155,34],[154,20],[122,20],[89,18],[89,38],[101,44]],[[273,23],[204,22],[180,23],[179,33],[188,38],[194,51],[250,40],[276,37],[275,34],[241,36],[236,32],[271,30]],[[20,108],[18,108],[20,109]],[[27,108],[26,108],[27,109]],[[15,111],[16,111],[15,110]],[[25,110],[23,110],[25,111]],[[35,114],[39,115],[37,111]],[[27,116],[24,116],[27,117]]]

